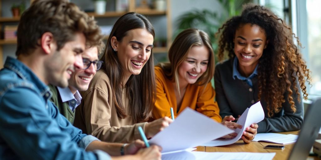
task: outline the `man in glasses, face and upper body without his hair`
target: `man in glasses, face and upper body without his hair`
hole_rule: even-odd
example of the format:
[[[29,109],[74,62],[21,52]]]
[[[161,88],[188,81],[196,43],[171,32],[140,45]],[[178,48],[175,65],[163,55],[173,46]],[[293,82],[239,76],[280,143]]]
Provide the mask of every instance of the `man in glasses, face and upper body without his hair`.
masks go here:
[[[102,46],[103,43],[101,42],[101,46],[87,48],[82,53],[83,68],[75,68],[75,72],[68,80],[68,87],[61,88],[49,85],[50,91],[53,93],[50,100],[57,106],[60,114],[65,116],[71,124],[74,123],[75,109],[82,99],[79,91],[88,89],[91,79],[101,67],[102,61],[98,60],[98,53],[101,52]]]

